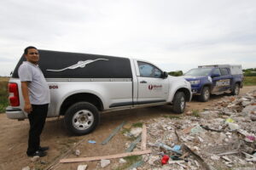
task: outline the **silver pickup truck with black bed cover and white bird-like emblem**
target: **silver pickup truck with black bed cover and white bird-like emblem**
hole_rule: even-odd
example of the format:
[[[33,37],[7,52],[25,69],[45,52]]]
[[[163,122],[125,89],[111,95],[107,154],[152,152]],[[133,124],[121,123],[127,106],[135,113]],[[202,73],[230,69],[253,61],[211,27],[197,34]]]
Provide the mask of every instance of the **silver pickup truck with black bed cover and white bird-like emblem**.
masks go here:
[[[173,105],[173,111],[183,113],[192,97],[189,82],[147,61],[49,50],[39,54],[50,89],[48,117],[64,116],[67,130],[76,135],[92,132],[100,112]],[[22,56],[9,80],[10,119],[27,118],[17,73],[24,60]]]

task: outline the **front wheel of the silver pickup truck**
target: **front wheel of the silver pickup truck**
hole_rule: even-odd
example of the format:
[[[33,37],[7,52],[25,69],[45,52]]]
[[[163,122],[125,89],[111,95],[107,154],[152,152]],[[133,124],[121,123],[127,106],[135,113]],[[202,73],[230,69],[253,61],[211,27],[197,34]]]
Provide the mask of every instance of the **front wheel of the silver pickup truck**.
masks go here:
[[[186,108],[186,99],[183,92],[177,92],[173,99],[173,111],[183,113]]]

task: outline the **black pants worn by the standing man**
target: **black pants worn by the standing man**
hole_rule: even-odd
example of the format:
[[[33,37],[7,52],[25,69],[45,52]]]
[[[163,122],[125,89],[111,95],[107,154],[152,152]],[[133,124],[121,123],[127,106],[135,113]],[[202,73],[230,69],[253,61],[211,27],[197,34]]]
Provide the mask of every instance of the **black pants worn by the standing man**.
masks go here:
[[[32,112],[28,114],[30,129],[28,137],[27,155],[32,155],[40,146],[40,134],[43,131],[47,116],[48,104],[32,105]]]

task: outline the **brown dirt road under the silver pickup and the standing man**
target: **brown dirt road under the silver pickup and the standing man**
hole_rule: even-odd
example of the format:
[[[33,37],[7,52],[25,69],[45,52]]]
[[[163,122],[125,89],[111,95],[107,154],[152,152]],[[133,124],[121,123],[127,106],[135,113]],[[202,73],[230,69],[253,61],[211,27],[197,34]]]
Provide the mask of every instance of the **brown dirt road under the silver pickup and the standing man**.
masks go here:
[[[256,86],[247,86],[241,89],[241,94],[256,89]],[[192,100],[188,105],[186,111],[199,110],[211,106],[219,99],[224,97],[212,96],[207,103],[201,103]],[[102,114],[102,121],[93,133],[85,136],[75,137],[66,133],[62,119],[50,118],[47,120],[42,134],[42,145],[48,145],[50,150],[48,156],[40,158],[39,161],[32,162],[26,156],[27,133],[29,130],[28,121],[18,122],[10,120],[5,114],[0,114],[0,169],[2,170],[20,170],[22,167],[29,166],[35,169],[44,169],[51,162],[55,161],[58,156],[61,156],[66,150],[73,146],[81,139],[85,139],[83,144],[79,145],[81,156],[105,156],[109,154],[118,154],[124,152],[125,143],[127,139],[119,133],[108,144],[100,144],[112,130],[119,126],[121,122],[135,123],[144,122],[145,120],[157,117],[170,115],[172,113],[172,106],[158,106],[129,111],[116,111],[112,113]],[[88,140],[95,140],[96,144],[89,144]],[[68,157],[75,157],[73,154]],[[98,167],[98,161],[84,162],[87,164],[87,169],[101,169]],[[79,163],[60,164],[55,169],[77,169]],[[110,167],[108,167],[110,169]],[[108,169],[105,168],[105,169]]]

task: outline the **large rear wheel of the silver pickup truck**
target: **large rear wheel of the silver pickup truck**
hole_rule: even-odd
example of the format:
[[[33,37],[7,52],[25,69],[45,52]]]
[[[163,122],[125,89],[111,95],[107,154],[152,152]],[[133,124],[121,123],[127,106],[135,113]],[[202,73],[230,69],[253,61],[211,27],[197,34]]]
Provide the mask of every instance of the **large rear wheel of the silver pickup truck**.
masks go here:
[[[91,133],[99,121],[100,115],[96,106],[88,102],[71,105],[64,117],[67,131],[75,135]]]

